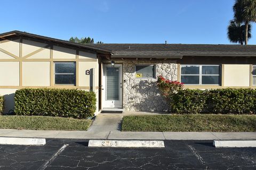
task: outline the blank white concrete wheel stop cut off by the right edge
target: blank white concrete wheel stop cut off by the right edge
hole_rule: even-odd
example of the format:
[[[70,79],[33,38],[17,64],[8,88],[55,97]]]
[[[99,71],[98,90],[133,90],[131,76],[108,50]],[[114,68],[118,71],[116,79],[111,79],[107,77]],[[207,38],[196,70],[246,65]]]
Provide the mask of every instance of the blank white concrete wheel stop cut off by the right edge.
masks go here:
[[[214,140],[213,146],[216,148],[256,147],[256,140]]]

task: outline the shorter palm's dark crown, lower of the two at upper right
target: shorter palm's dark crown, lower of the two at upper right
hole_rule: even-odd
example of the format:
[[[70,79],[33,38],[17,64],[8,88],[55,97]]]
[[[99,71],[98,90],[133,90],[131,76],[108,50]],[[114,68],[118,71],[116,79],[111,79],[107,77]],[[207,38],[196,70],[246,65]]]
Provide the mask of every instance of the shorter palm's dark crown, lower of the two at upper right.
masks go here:
[[[248,35],[250,39],[251,35],[251,24],[248,24]],[[245,42],[245,25],[241,25],[235,20],[231,20],[228,25],[228,39],[232,43],[240,43],[241,45]]]

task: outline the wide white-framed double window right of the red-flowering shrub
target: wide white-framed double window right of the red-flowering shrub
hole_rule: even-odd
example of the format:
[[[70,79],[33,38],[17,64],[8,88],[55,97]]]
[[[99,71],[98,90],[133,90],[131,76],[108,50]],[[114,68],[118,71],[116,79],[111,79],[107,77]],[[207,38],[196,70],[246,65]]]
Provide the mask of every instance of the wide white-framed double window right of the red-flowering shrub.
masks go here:
[[[181,65],[181,82],[220,85],[220,72],[220,65]]]

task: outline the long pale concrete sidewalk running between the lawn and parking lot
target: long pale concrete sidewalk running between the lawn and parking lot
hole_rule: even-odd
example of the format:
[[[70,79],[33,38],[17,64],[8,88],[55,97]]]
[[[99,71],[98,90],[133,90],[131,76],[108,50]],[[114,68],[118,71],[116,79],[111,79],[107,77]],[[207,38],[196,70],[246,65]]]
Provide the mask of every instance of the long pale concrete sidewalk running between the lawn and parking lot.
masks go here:
[[[90,132],[0,129],[0,137],[127,140],[256,140],[256,132]]]

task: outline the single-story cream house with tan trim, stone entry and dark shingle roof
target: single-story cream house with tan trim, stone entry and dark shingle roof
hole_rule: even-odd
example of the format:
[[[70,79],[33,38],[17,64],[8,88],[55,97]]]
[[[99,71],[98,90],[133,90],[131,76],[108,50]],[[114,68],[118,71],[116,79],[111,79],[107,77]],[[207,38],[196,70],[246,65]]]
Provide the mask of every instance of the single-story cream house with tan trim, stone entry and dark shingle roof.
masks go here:
[[[255,65],[254,65],[255,64]],[[166,111],[158,75],[185,88],[255,88],[256,45],[77,44],[11,31],[0,34],[0,95],[5,113],[21,88],[92,90],[97,112]]]

